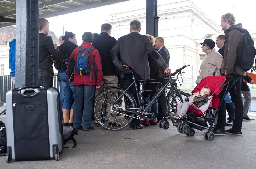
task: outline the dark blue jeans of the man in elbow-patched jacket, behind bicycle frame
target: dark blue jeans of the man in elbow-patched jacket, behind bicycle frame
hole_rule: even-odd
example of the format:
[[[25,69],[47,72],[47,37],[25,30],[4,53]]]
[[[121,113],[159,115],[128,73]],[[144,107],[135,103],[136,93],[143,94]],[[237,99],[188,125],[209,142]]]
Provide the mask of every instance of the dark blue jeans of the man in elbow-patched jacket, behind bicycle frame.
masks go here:
[[[135,72],[134,72],[134,78],[135,78],[135,80],[140,80],[140,76],[137,73],[135,73]],[[123,76],[123,86],[128,88],[128,86],[130,86],[131,83],[133,83],[133,75],[132,74],[124,75]],[[138,86],[138,90],[140,90],[140,85],[137,84],[137,86]],[[133,94],[135,92],[135,87],[132,86],[128,90],[128,92]],[[135,94],[133,94],[133,97],[134,97],[134,99],[136,101],[137,107],[140,107],[140,101],[137,99],[136,92],[135,92]],[[128,107],[127,103],[125,103],[125,104],[126,104],[126,107]],[[136,115],[135,115],[135,117],[138,118]],[[140,125],[140,120],[133,118],[132,122],[130,123],[130,126],[139,126],[139,125]]]

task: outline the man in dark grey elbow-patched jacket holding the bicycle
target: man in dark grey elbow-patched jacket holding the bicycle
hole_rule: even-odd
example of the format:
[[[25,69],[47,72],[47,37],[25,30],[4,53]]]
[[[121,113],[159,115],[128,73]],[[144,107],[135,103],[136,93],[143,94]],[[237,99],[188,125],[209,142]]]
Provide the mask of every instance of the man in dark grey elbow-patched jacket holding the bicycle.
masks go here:
[[[148,64],[148,53],[151,53],[157,63],[163,67],[165,73],[170,73],[171,69],[167,66],[162,57],[158,54],[149,38],[140,35],[141,23],[134,20],[130,23],[130,34],[120,37],[116,45],[112,48],[110,54],[114,65],[122,71],[124,65],[130,66],[134,70],[135,80],[150,79],[150,71]],[[120,55],[120,60],[118,59]],[[133,82],[132,74],[121,76],[123,85],[128,87]],[[131,88],[130,91],[131,92]],[[135,97],[137,98],[137,96]],[[136,99],[137,107],[140,102]],[[130,123],[130,128],[141,129],[144,125],[140,124],[140,120],[134,118]]]

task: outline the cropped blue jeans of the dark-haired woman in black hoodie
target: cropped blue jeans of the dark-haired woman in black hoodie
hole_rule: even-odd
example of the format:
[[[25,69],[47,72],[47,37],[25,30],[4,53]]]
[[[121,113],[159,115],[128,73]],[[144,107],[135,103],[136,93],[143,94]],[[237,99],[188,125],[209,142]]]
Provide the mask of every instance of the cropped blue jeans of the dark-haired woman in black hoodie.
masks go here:
[[[73,86],[72,83],[69,82],[67,73],[65,71],[59,73],[59,77],[62,83],[64,95],[65,95],[62,109],[67,109],[67,110],[73,109],[74,103],[72,104],[72,106],[71,106],[71,103],[72,103],[72,98],[73,97],[75,98],[75,87]]]

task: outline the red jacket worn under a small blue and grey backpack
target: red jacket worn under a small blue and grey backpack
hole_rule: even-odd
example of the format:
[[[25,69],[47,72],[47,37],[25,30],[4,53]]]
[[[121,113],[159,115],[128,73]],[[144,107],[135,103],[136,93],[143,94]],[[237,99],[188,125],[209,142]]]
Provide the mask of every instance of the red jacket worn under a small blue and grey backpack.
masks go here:
[[[83,48],[94,48],[94,46],[89,42],[83,42],[81,45]],[[73,50],[69,57],[68,62],[68,69],[67,69],[67,75],[70,79],[70,82],[73,82],[73,85],[97,85],[101,86],[102,83],[102,66],[101,66],[101,57],[97,49],[94,49],[90,53],[90,65],[94,64],[92,68],[92,78],[90,82],[90,73],[80,76],[79,73],[77,73],[76,70],[76,62],[77,62],[77,54],[78,54],[78,47]],[[93,59],[93,56],[95,58]],[[95,72],[96,69],[96,72]],[[97,71],[98,69],[98,71]],[[75,70],[75,73],[73,71]],[[73,76],[74,75],[74,76]],[[96,76],[96,78],[95,78]],[[95,83],[96,79],[96,83]]]

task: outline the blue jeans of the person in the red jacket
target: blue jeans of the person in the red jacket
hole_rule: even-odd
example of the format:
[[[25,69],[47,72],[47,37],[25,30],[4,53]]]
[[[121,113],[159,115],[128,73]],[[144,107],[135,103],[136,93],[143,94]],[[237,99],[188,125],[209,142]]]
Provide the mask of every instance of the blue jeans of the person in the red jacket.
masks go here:
[[[93,113],[95,85],[75,85],[76,97],[74,106],[74,121],[73,127],[79,128],[81,125],[83,129],[88,129],[91,126],[91,114]],[[82,120],[82,106],[83,120]]]

